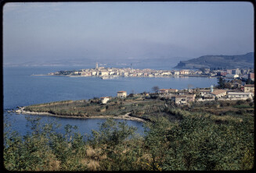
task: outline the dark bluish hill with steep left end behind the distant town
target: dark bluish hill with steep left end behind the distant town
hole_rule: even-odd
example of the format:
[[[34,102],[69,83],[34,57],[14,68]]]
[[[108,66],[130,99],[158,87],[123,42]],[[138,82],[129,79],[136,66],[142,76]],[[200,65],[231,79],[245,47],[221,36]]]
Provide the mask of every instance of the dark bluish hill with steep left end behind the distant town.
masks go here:
[[[199,69],[199,68],[254,68],[254,52],[245,55],[205,55],[187,61],[181,61],[174,69]]]

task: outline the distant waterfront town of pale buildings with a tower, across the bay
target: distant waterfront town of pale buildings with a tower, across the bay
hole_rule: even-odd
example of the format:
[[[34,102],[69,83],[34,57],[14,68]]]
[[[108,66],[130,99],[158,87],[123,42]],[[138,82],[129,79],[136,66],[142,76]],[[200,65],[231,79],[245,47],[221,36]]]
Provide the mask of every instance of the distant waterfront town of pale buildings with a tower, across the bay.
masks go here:
[[[168,77],[168,76],[200,76],[218,77],[226,79],[247,79],[254,80],[254,69],[180,69],[180,70],[155,70],[155,69],[133,69],[130,68],[105,68],[99,67],[96,63],[94,69],[81,69],[72,71],[50,72],[48,75],[54,76],[99,76],[102,79],[111,79],[118,76],[123,77]]]

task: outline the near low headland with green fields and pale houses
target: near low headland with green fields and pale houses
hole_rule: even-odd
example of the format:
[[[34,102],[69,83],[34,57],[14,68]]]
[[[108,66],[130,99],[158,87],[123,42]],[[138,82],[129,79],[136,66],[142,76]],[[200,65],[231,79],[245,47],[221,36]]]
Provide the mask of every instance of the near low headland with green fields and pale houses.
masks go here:
[[[221,85],[219,86],[221,87]],[[234,87],[234,86],[233,86]],[[154,88],[154,87],[153,87]],[[200,89],[158,89],[155,93],[129,94],[118,91],[117,97],[100,97],[81,101],[56,101],[45,104],[34,104],[16,110],[17,114],[50,115],[63,118],[121,118],[139,122],[152,122],[154,118],[165,117],[177,120],[167,110],[183,108],[198,111],[204,105],[214,104],[218,110],[210,109],[211,113],[222,115],[225,111],[239,111],[229,105],[246,103],[248,111],[253,109],[254,85],[245,85],[233,89],[200,88]],[[229,104],[227,104],[229,102]],[[228,108],[220,108],[227,104]],[[206,106],[206,107],[205,107]],[[222,106],[223,107],[223,106]],[[196,109],[195,109],[196,108]],[[217,113],[216,113],[217,112]]]

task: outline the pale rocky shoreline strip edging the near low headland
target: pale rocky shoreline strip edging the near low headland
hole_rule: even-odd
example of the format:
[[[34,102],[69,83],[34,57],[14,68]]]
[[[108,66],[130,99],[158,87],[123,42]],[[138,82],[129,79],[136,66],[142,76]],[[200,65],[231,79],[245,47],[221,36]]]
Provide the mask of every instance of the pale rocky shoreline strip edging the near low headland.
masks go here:
[[[59,118],[83,118],[83,119],[87,119],[87,118],[114,118],[114,119],[124,119],[124,120],[131,120],[131,121],[137,121],[137,122],[146,122],[143,118],[137,118],[137,117],[132,117],[130,116],[130,112],[128,112],[125,115],[118,115],[118,116],[114,116],[114,115],[99,115],[99,116],[91,116],[91,117],[79,117],[79,116],[67,116],[67,115],[54,115],[51,114],[49,112],[35,112],[35,111],[24,111],[25,107],[19,108],[18,110],[16,110],[16,114],[23,114],[23,115],[46,115],[46,116],[53,116],[53,117],[59,117]]]

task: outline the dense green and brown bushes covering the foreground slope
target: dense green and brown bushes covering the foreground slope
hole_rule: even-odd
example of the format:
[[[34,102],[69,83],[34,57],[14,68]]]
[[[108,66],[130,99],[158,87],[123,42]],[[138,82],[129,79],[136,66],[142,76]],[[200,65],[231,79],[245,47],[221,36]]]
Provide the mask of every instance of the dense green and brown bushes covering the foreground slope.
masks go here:
[[[71,125],[63,134],[55,123],[28,116],[32,132],[26,136],[5,126],[4,164],[10,171],[248,170],[254,167],[252,106],[249,101],[168,105],[152,110],[145,136],[113,119],[91,136],[73,132]]]

